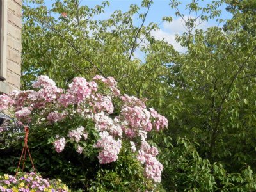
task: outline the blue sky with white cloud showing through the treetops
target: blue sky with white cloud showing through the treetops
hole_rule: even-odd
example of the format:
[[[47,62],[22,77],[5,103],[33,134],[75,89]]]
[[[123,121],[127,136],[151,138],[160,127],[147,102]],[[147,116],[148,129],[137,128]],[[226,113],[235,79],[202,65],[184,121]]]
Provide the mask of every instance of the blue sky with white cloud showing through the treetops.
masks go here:
[[[80,0],[81,4],[86,4],[89,7],[94,7],[97,4],[101,4],[103,0]],[[206,6],[206,4],[211,4],[212,0],[204,0],[204,1],[198,1],[199,6]],[[51,8],[51,4],[54,2],[54,0],[45,0],[45,5],[49,8]],[[191,0],[181,0],[182,4],[179,7],[180,12],[184,13],[185,17],[188,15],[188,11],[185,9],[186,4],[190,3]],[[109,0],[109,7],[105,9],[105,13],[100,15],[99,18],[95,19],[107,19],[110,17],[111,13],[113,13],[115,10],[122,10],[122,12],[126,12],[129,10],[129,6],[131,4],[138,4],[140,6],[141,0]],[[159,27],[159,31],[153,31],[152,35],[155,36],[155,38],[161,40],[165,39],[168,41],[168,43],[172,44],[177,51],[184,52],[185,49],[181,47],[177,42],[175,42],[175,35],[176,34],[182,34],[184,32],[184,26],[182,24],[182,20],[179,17],[175,17],[175,10],[172,10],[169,6],[170,0],[154,0],[154,4],[150,8],[150,11],[148,12],[147,20],[145,21],[145,24],[147,25],[150,22],[156,22],[159,24],[164,16],[171,16],[173,17],[173,22],[163,22]],[[220,18],[221,19],[230,19],[231,14],[228,13],[225,8],[226,4],[223,4],[223,6],[220,7],[220,10],[222,12]],[[145,12],[145,10],[140,10],[140,13]],[[135,20],[134,20],[135,21]],[[134,24],[137,23],[134,22]],[[140,25],[140,24],[139,24]],[[208,22],[204,22],[201,24],[198,28],[207,29],[209,26],[216,26],[218,23],[216,20],[209,20]],[[136,53],[135,53],[136,54]],[[143,60],[141,54],[137,52],[136,57],[141,58]]]

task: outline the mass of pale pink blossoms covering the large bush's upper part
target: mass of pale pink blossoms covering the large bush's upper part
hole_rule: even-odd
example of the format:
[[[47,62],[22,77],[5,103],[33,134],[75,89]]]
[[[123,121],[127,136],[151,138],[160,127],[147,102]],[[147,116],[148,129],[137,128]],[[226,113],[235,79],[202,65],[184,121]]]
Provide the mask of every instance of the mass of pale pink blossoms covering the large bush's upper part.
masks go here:
[[[75,77],[64,90],[49,77],[39,76],[33,83],[36,90],[0,95],[0,109],[13,110],[23,124],[42,127],[58,153],[73,146],[77,156],[93,158],[96,153],[100,164],[109,164],[129,150],[145,177],[160,182],[163,166],[157,148],[147,143],[147,134],[167,127],[166,118],[148,109],[145,100],[122,95],[113,77],[93,80]]]

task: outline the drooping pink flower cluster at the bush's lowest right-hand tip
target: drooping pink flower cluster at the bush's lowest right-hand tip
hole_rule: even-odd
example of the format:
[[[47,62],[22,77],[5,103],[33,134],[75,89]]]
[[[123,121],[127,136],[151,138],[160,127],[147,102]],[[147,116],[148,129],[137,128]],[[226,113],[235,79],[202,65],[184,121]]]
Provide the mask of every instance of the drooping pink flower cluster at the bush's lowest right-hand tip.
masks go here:
[[[142,164],[145,164],[146,177],[153,179],[154,182],[161,182],[163,165],[157,161],[157,154],[156,147],[150,147],[146,141],[142,141],[137,158]]]

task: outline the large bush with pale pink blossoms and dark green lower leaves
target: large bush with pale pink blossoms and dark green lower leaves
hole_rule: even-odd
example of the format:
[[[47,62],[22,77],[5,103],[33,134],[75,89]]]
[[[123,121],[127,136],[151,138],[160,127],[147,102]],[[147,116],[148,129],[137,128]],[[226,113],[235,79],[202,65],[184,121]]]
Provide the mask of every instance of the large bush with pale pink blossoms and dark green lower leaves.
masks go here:
[[[147,133],[164,129],[166,118],[121,95],[112,77],[94,80],[75,77],[63,90],[39,76],[35,90],[0,95],[0,110],[29,125],[31,154],[43,176],[61,177],[76,190],[157,189],[163,165]],[[17,154],[15,146],[8,149]]]

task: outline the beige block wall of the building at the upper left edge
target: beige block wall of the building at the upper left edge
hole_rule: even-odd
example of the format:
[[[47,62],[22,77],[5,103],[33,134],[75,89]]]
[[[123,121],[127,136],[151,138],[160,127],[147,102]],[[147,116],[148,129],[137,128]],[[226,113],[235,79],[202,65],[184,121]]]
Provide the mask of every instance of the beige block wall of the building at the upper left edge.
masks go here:
[[[0,92],[9,93],[20,89],[21,71],[21,29],[22,29],[22,0],[4,0],[3,22],[3,63],[4,82],[0,84]]]

